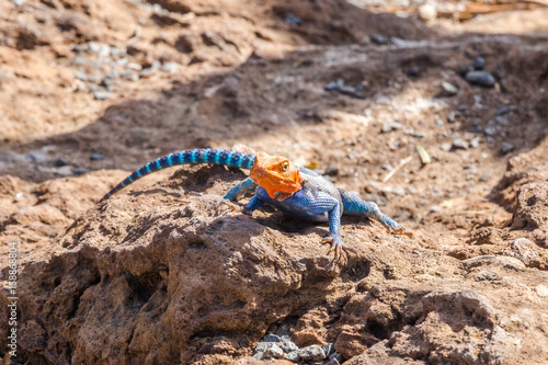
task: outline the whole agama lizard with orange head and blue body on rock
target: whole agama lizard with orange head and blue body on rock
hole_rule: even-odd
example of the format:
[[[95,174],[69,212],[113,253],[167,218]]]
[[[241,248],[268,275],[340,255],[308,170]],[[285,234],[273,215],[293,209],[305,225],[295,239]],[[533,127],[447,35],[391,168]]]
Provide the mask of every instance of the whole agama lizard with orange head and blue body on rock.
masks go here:
[[[287,216],[312,221],[329,221],[331,237],[321,242],[331,244],[335,260],[341,258],[346,262],[346,252],[356,252],[354,248],[344,246],[341,241],[339,230],[343,214],[365,216],[379,221],[390,233],[413,237],[398,223],[383,214],[377,204],[365,202],[357,194],[335,187],[318,173],[295,166],[285,157],[274,157],[265,152],[192,149],[171,153],[134,171],[103,196],[101,202],[151,172],[186,163],[216,163],[250,170],[250,178],[230,189],[224,198],[235,201],[246,191],[255,189],[255,194],[243,207],[242,213],[252,215],[253,210],[269,203]]]

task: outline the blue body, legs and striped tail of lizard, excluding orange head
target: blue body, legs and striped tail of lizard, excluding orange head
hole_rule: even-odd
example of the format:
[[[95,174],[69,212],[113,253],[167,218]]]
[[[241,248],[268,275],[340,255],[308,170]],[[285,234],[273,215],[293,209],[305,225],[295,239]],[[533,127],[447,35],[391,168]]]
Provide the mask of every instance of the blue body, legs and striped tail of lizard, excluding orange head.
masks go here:
[[[158,171],[163,168],[186,164],[186,163],[217,163],[242,169],[251,169],[255,162],[255,156],[231,150],[221,149],[195,149],[171,153],[147,163],[133,172],[113,190],[111,190],[101,201],[109,198],[124,186],[137,179]],[[242,193],[255,189],[255,194],[243,207],[242,212],[252,214],[264,204],[271,204],[285,215],[311,221],[329,221],[329,242],[335,248],[335,258],[346,260],[345,251],[355,252],[351,247],[342,243],[340,237],[341,216],[343,214],[364,216],[379,221],[389,232],[412,237],[393,219],[383,214],[377,204],[363,201],[357,194],[338,189],[330,181],[318,173],[306,168],[297,167],[302,179],[301,189],[283,199],[272,197],[266,190],[250,178],[243,180],[230,189],[224,198],[235,201]]]

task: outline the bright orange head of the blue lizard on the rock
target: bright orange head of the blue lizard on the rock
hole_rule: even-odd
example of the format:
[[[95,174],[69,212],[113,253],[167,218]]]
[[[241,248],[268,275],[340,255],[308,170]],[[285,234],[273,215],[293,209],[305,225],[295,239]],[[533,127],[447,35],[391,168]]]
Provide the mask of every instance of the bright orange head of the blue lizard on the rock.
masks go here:
[[[302,189],[299,169],[285,157],[256,153],[249,176],[273,199],[283,201]]]

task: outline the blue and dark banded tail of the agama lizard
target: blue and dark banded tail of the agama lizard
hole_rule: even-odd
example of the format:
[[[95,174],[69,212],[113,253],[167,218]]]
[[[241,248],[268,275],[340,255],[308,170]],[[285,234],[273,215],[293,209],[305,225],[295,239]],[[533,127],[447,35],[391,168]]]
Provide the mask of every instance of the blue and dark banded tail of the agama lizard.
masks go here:
[[[155,171],[165,169],[172,166],[186,163],[217,163],[240,169],[251,169],[255,161],[254,155],[242,153],[226,149],[191,149],[181,152],[174,152],[145,164],[137,171],[134,171],[129,176],[124,179],[119,184],[114,186],[100,202],[106,201],[111,195],[129,185],[136,180],[148,175]]]

